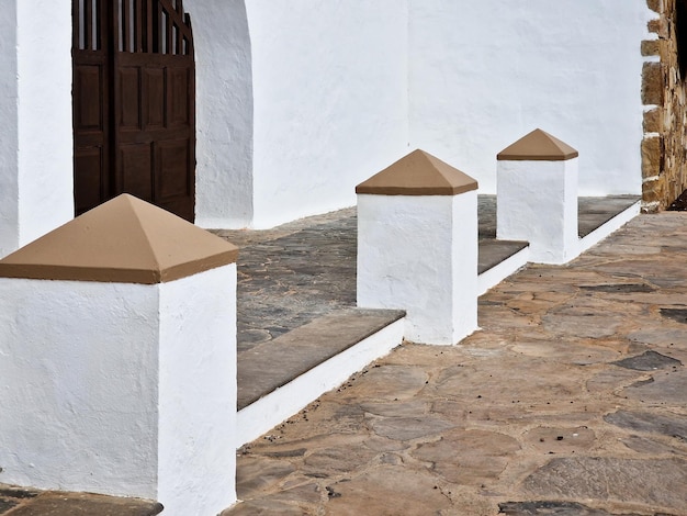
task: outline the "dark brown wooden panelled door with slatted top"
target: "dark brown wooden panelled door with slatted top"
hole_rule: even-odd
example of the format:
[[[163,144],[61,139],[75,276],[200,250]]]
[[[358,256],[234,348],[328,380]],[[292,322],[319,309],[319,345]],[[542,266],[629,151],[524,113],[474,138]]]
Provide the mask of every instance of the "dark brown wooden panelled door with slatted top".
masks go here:
[[[123,192],[193,221],[195,65],[181,0],[72,0],[77,214]]]

